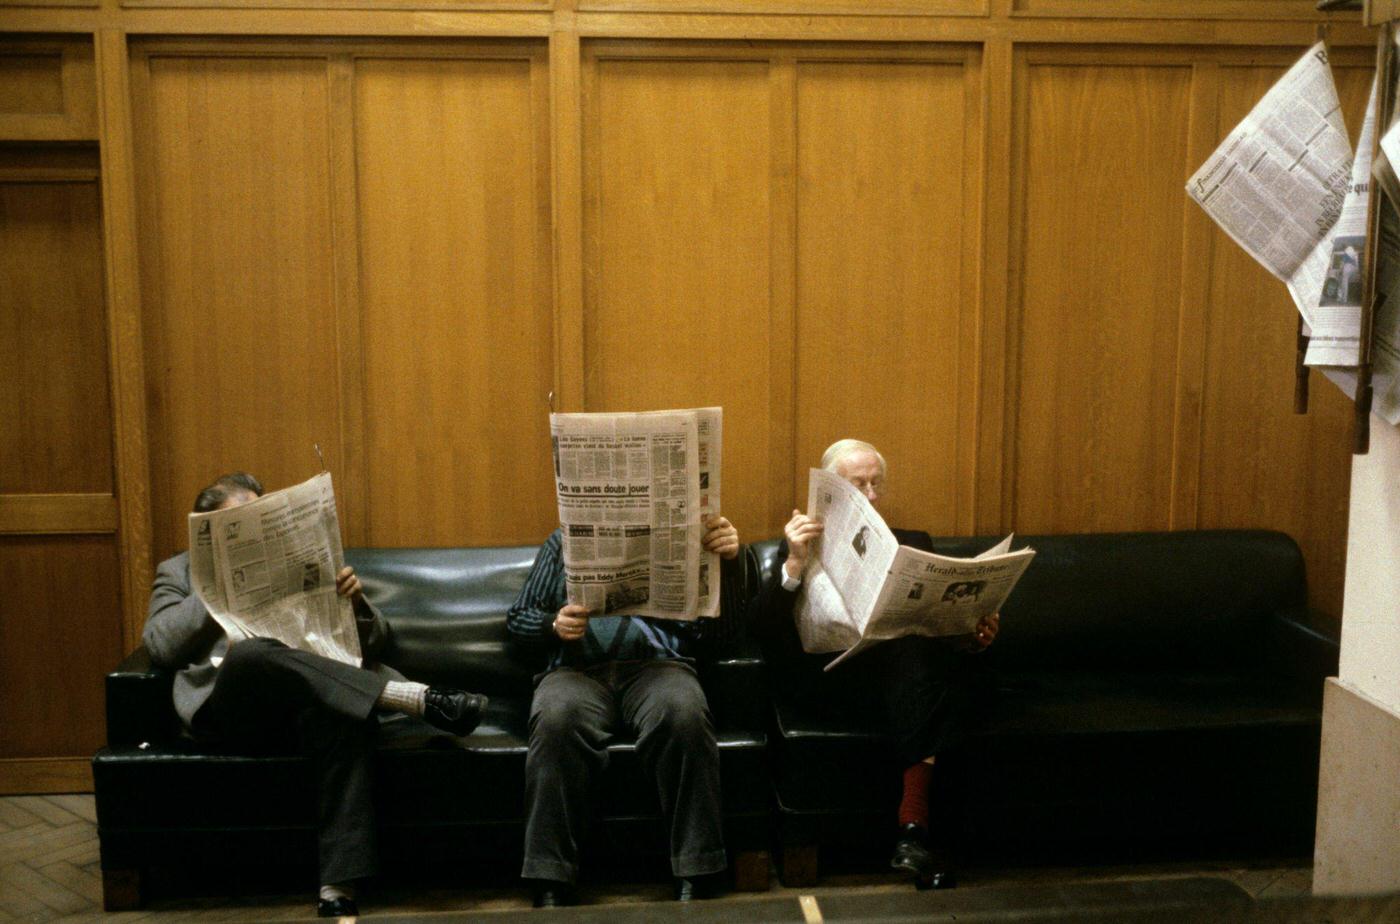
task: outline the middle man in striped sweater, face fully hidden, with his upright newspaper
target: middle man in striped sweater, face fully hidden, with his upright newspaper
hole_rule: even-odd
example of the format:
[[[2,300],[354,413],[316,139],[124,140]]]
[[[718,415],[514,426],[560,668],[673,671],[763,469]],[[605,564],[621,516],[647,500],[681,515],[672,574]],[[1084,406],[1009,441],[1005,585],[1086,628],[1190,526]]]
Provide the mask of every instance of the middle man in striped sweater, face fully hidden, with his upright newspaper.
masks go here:
[[[694,657],[743,601],[739,533],[718,511],[715,412],[553,416],[564,526],[505,623],[549,658],[525,757],[521,876],[536,907],[577,900],[580,844],[617,734],[636,735],[657,785],[676,897],[718,890],[720,752]],[[697,619],[707,609],[718,619]]]

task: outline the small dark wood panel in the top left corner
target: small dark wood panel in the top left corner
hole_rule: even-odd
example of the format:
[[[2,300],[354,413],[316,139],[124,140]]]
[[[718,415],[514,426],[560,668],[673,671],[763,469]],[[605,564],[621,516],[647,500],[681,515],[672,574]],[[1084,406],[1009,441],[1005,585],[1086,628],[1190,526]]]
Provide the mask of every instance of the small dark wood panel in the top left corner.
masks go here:
[[[0,38],[0,140],[97,139],[92,41]]]

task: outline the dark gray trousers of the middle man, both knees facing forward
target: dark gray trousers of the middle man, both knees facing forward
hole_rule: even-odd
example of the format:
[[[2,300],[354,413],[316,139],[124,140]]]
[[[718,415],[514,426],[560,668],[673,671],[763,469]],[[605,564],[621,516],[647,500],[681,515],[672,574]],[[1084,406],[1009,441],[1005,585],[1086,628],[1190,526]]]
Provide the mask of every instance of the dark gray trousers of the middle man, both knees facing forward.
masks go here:
[[[535,687],[521,875],[577,879],[578,847],[617,729],[637,735],[637,755],[657,784],[671,826],[672,872],[699,876],[724,869],[720,749],[694,668],[682,661],[623,661],[559,668]]]

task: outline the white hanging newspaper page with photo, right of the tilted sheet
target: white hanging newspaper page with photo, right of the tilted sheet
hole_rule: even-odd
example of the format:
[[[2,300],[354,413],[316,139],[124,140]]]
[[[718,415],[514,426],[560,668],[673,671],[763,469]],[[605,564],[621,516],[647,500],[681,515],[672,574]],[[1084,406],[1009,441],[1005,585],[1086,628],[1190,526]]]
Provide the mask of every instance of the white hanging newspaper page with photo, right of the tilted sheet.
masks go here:
[[[1361,361],[1361,283],[1366,252],[1366,217],[1371,207],[1371,148],[1375,143],[1376,83],[1371,84],[1371,102],[1361,125],[1357,157],[1351,168],[1347,199],[1337,223],[1295,274],[1295,294],[1312,311],[1308,342],[1308,365],[1355,365]]]

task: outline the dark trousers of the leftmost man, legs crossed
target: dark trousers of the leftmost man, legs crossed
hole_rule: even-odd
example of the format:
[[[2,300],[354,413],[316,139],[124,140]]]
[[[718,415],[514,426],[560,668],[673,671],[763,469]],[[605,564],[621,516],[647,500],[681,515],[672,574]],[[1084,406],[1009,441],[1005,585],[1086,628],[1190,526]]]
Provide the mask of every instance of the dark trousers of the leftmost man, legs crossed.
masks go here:
[[[272,638],[230,645],[192,731],[238,753],[302,753],[318,783],[321,882],[374,875],[370,715],[385,678]]]

